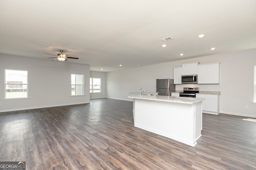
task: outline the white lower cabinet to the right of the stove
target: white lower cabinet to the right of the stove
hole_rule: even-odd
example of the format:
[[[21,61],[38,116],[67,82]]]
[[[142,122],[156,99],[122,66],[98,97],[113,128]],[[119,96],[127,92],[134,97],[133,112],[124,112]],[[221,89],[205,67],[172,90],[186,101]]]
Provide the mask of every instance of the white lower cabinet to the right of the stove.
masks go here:
[[[219,95],[212,94],[196,94],[196,98],[204,98],[202,101],[203,113],[218,115],[219,111]]]

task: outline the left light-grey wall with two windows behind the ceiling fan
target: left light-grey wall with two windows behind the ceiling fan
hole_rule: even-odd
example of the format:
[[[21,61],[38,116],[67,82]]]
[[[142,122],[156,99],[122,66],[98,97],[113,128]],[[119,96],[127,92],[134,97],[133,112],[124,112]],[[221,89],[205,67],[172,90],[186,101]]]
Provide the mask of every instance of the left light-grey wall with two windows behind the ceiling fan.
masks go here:
[[[0,112],[90,102],[90,66],[0,54]],[[63,67],[63,69],[61,68]],[[4,100],[4,69],[28,70],[27,100]],[[71,95],[71,74],[84,74],[85,96]]]

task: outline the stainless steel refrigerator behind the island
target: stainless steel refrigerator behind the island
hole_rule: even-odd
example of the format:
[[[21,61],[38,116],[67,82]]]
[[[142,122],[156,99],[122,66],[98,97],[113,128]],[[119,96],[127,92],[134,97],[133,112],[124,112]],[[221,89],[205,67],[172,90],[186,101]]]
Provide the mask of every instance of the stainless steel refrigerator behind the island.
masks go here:
[[[175,92],[173,79],[156,79],[156,92],[160,96],[171,96],[171,92]]]

